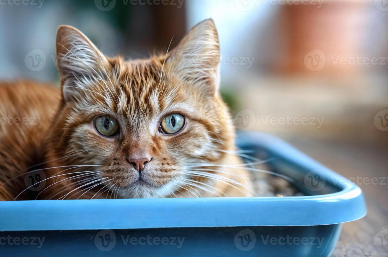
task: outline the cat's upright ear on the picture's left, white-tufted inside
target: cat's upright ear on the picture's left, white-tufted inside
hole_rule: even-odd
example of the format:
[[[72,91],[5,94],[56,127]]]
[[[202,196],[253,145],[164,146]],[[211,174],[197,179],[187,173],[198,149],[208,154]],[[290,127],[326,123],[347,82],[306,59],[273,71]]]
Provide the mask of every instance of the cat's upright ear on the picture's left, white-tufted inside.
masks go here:
[[[56,48],[62,96],[69,101],[98,78],[108,61],[87,36],[71,26],[59,27]]]

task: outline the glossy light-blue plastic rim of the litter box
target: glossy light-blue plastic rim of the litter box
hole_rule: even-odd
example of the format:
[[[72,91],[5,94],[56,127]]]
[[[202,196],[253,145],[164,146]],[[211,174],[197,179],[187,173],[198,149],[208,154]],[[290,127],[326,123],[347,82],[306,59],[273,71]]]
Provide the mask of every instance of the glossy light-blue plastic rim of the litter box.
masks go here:
[[[239,139],[260,144],[306,170],[320,169],[339,192],[302,197],[31,200],[0,202],[0,231],[96,230],[338,224],[367,213],[361,189],[339,179],[286,142],[268,134]]]

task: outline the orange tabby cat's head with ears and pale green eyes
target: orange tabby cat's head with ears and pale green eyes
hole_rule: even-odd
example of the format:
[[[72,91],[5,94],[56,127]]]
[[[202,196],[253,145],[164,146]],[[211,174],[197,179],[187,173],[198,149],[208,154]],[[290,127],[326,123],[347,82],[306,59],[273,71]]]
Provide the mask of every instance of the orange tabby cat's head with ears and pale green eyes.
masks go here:
[[[184,191],[192,164],[222,164],[233,148],[218,92],[219,59],[211,19],[167,55],[129,61],[106,57],[80,31],[61,26],[62,101],[50,136],[55,156],[73,154],[64,165],[100,165],[85,167],[100,171],[102,185],[120,197]]]

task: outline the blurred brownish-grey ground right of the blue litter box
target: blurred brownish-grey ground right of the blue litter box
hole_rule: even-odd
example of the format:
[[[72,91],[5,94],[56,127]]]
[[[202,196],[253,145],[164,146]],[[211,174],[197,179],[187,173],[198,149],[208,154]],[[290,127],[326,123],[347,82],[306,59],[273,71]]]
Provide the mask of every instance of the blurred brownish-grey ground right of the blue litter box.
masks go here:
[[[388,147],[375,147],[346,142],[288,139],[291,144],[346,178],[386,177]],[[388,181],[381,185],[360,183],[368,214],[359,221],[345,223],[333,257],[388,256],[374,244],[376,234],[388,229]]]

